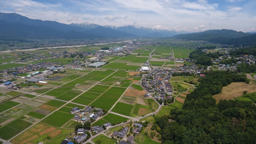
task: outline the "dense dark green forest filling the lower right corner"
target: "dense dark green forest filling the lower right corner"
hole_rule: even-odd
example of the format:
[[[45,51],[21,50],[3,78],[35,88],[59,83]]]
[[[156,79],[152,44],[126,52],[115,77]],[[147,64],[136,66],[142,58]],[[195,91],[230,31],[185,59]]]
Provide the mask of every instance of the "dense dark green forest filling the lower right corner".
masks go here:
[[[211,91],[215,88],[220,92],[222,86],[231,82],[244,82],[246,76],[209,71],[199,81],[196,89],[187,95],[183,108],[172,109],[162,117],[155,116],[152,129],[161,134],[162,143],[256,143],[256,106],[251,101],[222,99],[216,104]]]

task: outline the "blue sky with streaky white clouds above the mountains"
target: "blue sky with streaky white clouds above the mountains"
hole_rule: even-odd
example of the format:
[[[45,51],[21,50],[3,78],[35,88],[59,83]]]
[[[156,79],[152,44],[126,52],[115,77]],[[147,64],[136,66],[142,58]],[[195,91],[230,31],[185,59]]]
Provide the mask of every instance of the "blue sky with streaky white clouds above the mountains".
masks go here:
[[[256,31],[255,0],[3,0],[0,12],[66,24]]]

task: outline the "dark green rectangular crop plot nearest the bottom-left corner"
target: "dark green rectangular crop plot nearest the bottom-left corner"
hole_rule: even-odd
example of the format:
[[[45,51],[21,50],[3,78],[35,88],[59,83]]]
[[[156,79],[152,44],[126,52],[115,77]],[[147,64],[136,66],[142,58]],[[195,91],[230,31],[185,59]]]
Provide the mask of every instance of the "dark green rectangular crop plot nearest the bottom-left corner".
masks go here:
[[[21,131],[25,130],[30,125],[32,125],[32,123],[21,119],[16,119],[11,123],[1,127],[0,134],[4,140],[8,140],[16,134],[20,133]]]

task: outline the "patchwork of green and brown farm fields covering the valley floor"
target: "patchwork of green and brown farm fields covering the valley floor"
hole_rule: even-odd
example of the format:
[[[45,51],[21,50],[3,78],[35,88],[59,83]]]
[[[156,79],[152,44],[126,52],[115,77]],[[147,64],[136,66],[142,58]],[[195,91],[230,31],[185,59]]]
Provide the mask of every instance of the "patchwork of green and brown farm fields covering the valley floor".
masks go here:
[[[163,40],[165,41],[165,40]],[[101,46],[85,46],[67,49],[58,49],[59,52],[75,51],[91,51],[99,50],[102,47],[114,45]],[[70,114],[72,108],[78,107],[84,109],[85,106],[94,106],[110,110],[120,115],[108,113],[102,118],[97,119],[94,125],[102,125],[104,123],[122,123],[127,121],[129,117],[143,116],[153,112],[152,107],[157,108],[158,104],[153,99],[146,99],[141,97],[145,94],[143,88],[137,85],[142,77],[130,77],[138,73],[134,72],[146,62],[153,52],[150,63],[154,67],[171,67],[178,65],[174,60],[168,60],[166,57],[187,58],[188,53],[194,49],[190,49],[191,43],[181,43],[176,45],[156,45],[144,46],[137,49],[128,56],[105,56],[102,61],[108,61],[109,64],[97,68],[86,68],[83,70],[67,69],[65,73],[52,75],[46,81],[45,85],[33,84],[39,86],[38,89],[21,88],[18,91],[8,91],[5,97],[13,97],[21,95],[15,99],[0,104],[0,110],[5,111],[5,115],[0,115],[0,134],[4,140],[9,140],[19,132],[30,127],[36,121],[39,121],[34,126],[11,140],[12,143],[37,143],[43,141],[47,136],[52,140],[44,140],[44,143],[61,143],[63,139],[74,132],[73,128],[79,124],[73,121],[74,115]],[[147,49],[145,49],[147,48]],[[38,55],[48,56],[52,50],[43,49],[38,50]],[[23,56],[20,52],[7,53],[7,58],[0,60],[0,70],[12,69],[19,66],[27,66],[28,64],[35,64],[38,62],[58,62],[59,64],[69,64],[74,58],[47,58],[38,61],[28,60],[22,63],[11,63],[16,58],[24,56],[29,57],[30,54],[25,53]],[[0,54],[1,55],[1,54]],[[87,56],[84,58],[92,58]],[[79,61],[83,59],[77,58]],[[69,61],[69,62],[68,62]],[[182,65],[182,64],[181,64]],[[44,71],[39,69],[37,71]],[[131,73],[129,75],[129,70]],[[27,73],[19,76],[25,76]],[[129,77],[129,78],[128,78]],[[190,87],[184,81],[183,77],[172,79],[173,82],[180,82],[183,88]],[[189,79],[191,80],[191,79]],[[25,81],[25,80],[23,80]],[[134,84],[136,83],[136,84]],[[21,84],[26,87],[26,84]],[[131,85],[131,88],[129,88]],[[177,85],[176,85],[177,86]],[[26,92],[23,92],[23,91]],[[32,91],[33,90],[33,91]],[[2,92],[0,96],[3,95]],[[186,97],[186,94],[180,94],[179,98]],[[150,106],[150,104],[151,106]],[[179,106],[182,103],[177,103]],[[172,107],[172,106],[170,106]],[[123,117],[122,117],[123,116]],[[71,129],[70,129],[71,128]],[[6,130],[8,132],[6,133]],[[73,136],[73,135],[72,135]],[[71,137],[71,136],[70,136]]]

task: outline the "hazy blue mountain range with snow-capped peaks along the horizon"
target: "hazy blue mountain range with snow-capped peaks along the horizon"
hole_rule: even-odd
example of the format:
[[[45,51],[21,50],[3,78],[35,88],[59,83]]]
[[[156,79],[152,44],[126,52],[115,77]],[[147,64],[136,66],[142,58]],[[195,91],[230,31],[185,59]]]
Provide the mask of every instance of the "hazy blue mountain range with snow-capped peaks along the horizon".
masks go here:
[[[64,24],[56,21],[30,19],[16,13],[0,12],[0,39],[24,40],[44,38],[84,39],[115,37],[173,37],[187,40],[205,40],[221,44],[255,45],[256,33],[237,32],[229,29],[207,30],[204,32],[185,32],[156,29],[151,27],[124,25],[121,27],[97,25],[94,23]]]

